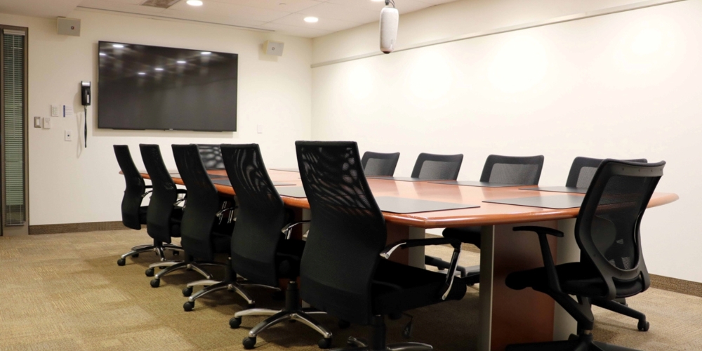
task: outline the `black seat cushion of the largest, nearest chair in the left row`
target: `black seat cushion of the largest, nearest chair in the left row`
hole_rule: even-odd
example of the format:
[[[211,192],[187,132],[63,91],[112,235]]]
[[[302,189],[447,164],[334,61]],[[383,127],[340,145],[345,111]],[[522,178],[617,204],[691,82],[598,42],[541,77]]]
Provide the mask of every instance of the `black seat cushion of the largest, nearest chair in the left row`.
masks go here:
[[[380,260],[373,278],[373,314],[393,314],[440,303],[446,274]],[[465,283],[453,282],[446,300],[461,300]]]

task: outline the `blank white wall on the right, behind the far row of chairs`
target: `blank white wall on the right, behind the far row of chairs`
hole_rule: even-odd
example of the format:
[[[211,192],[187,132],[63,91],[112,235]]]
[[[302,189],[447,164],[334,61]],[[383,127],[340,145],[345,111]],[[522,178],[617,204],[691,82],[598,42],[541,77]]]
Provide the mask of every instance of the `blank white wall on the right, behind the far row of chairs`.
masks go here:
[[[545,0],[486,2],[403,16],[400,22],[410,25],[400,32],[423,29],[429,39],[473,32],[478,28],[460,32],[463,22],[515,2],[532,9],[526,22],[555,13],[530,6]],[[514,10],[505,13],[520,13]],[[314,68],[312,138],[402,152],[398,176],[409,175],[419,152],[465,154],[459,175],[465,180],[479,178],[488,154],[543,154],[542,185],[562,185],[576,156],[663,159],[668,166],[658,191],[680,200],[647,212],[647,265],[654,274],[702,282],[700,18],[702,0],[689,0]],[[378,50],[377,32],[373,44],[357,42],[364,30],[314,39],[313,61]],[[331,54],[341,47],[347,48]]]

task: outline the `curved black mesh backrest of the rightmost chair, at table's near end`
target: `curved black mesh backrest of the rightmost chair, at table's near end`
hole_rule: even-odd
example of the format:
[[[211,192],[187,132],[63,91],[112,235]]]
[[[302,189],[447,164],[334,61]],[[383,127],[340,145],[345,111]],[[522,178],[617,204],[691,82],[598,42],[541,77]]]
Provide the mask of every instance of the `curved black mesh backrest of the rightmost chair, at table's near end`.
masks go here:
[[[663,176],[665,162],[645,164],[605,159],[588,188],[578,219],[576,240],[586,259],[607,282],[607,298],[616,296],[616,283],[650,285],[641,251],[640,223]]]

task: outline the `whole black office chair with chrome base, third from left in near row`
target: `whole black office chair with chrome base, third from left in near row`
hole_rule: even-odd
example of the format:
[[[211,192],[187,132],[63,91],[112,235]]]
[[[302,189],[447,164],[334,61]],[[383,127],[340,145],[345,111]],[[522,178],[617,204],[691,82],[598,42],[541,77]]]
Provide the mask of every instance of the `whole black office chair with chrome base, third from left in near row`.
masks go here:
[[[213,291],[225,289],[238,293],[248,303],[253,304],[253,299],[237,283],[237,274],[232,271],[229,260],[225,262],[215,260],[218,254],[229,256],[234,221],[225,220],[225,213],[234,211],[234,208],[220,209],[220,197],[199,157],[197,145],[173,145],[172,147],[178,173],[188,190],[180,225],[180,244],[185,250],[186,260],[156,274],[152,280],[152,286],[159,286],[159,279],[175,270],[204,271],[203,267],[207,266],[225,267],[225,278],[221,281],[207,277],[187,284],[183,289],[183,296],[188,296],[188,299],[183,304],[183,310],[191,311],[198,298]],[[192,295],[194,286],[205,286],[205,288]]]

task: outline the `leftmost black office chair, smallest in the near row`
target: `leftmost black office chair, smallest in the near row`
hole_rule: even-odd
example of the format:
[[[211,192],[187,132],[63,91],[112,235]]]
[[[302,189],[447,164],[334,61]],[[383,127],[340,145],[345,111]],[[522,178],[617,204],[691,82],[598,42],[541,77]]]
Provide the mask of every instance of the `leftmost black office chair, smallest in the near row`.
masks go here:
[[[151,189],[151,185],[145,185],[144,178],[137,170],[134,165],[134,161],[131,157],[131,152],[129,152],[129,147],[127,145],[114,145],[114,156],[117,157],[117,163],[119,168],[124,175],[124,183],[126,185],[124,189],[124,197],[122,197],[122,224],[125,227],[141,230],[141,225],[146,224],[146,213],[148,206],[141,206],[144,198],[151,191],[146,192],[147,189]],[[159,250],[161,247],[163,250]],[[182,251],[180,246],[173,244],[163,244],[162,242],[157,242],[154,240],[154,244],[145,244],[134,246],[131,251],[125,253],[119,257],[117,260],[117,265],[125,265],[126,258],[128,257],[139,257],[139,253],[144,253],[148,251],[155,251],[157,255],[160,255],[161,260],[166,260],[164,256],[164,250],[173,251],[174,255],[178,255],[178,251]]]

